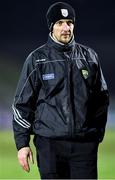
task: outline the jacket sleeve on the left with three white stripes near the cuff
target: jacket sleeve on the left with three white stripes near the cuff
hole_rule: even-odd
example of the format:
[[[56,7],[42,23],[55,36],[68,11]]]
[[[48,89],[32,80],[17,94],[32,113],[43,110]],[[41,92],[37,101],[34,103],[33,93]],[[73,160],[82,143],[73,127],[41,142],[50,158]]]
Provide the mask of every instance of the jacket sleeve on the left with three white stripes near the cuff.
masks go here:
[[[36,67],[32,55],[26,59],[17,85],[13,109],[13,131],[16,147],[29,146],[36,108]]]

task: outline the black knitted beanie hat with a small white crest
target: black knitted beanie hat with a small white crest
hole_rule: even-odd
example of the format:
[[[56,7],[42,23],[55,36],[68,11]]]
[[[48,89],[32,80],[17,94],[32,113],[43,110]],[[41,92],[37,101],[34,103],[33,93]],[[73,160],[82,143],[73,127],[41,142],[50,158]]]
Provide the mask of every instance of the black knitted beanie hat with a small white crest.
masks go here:
[[[57,2],[49,7],[46,18],[51,31],[53,25],[60,19],[71,19],[75,23],[75,11],[72,6],[65,2]]]

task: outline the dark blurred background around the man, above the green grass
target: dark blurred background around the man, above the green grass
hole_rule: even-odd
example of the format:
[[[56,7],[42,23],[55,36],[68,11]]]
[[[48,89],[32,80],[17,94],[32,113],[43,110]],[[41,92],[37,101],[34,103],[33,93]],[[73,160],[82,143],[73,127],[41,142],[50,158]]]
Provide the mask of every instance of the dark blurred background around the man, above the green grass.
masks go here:
[[[28,54],[47,41],[46,12],[56,0],[0,3],[0,129],[11,128],[11,105]],[[76,11],[75,39],[98,53],[110,92],[108,126],[115,126],[115,1],[64,0]]]

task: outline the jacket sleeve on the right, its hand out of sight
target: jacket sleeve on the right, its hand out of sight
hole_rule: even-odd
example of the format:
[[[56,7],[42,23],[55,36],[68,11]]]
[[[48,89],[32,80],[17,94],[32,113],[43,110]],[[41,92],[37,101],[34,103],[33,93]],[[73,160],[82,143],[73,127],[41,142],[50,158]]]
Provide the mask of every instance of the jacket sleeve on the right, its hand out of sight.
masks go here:
[[[100,61],[95,53],[97,61],[97,77],[94,85],[94,118],[96,126],[99,130],[99,141],[101,142],[104,137],[105,127],[107,122],[108,105],[109,105],[109,92],[106,81],[103,76]]]

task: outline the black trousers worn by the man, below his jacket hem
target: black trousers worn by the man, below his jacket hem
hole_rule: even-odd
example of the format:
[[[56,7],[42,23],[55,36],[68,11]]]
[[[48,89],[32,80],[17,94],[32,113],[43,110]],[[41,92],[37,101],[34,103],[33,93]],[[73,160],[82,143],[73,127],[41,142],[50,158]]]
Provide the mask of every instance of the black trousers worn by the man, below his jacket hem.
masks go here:
[[[97,142],[34,139],[41,179],[97,179]]]

